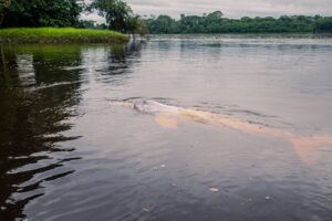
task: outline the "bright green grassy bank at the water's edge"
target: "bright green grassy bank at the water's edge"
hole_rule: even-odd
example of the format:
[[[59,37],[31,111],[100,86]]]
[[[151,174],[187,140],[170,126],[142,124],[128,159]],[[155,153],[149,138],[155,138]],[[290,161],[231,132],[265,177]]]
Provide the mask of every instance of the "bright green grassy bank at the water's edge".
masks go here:
[[[123,43],[125,34],[74,28],[14,28],[0,30],[0,43]]]

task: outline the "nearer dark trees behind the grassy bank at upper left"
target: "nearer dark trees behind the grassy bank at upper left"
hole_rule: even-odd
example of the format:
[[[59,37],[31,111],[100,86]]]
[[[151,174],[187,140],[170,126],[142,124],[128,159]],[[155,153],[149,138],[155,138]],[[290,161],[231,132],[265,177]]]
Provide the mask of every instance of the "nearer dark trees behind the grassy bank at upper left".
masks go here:
[[[96,12],[106,24],[80,20],[81,13]],[[143,22],[122,0],[0,0],[0,28],[74,27],[142,33]]]

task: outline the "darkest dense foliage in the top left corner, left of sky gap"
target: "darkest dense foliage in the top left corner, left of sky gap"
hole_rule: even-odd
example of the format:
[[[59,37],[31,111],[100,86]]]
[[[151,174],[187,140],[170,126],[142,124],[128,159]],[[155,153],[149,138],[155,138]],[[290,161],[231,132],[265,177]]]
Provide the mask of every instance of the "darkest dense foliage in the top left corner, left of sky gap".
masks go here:
[[[80,2],[76,0],[11,0],[3,15],[2,27],[76,27],[82,11]]]

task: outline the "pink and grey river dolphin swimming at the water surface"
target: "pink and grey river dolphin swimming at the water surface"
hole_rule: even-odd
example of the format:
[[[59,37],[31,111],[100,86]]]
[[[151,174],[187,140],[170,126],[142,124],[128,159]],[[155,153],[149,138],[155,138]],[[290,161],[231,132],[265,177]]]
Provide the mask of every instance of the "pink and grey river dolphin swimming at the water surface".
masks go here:
[[[176,107],[155,101],[138,99],[133,102],[113,102],[113,104],[127,106],[141,113],[152,114],[155,116],[155,122],[166,128],[176,128],[177,118],[183,117],[193,122],[225,126],[247,134],[282,138],[292,144],[295,152],[308,165],[312,165],[319,159],[319,148],[332,146],[331,135],[301,136],[284,128],[262,126],[222,114]]]

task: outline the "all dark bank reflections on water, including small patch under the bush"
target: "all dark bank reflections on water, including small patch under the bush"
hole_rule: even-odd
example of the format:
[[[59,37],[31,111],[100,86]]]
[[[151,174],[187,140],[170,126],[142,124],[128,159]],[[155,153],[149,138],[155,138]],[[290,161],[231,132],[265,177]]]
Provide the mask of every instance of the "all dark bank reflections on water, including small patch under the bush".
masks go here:
[[[70,157],[66,152],[75,147],[64,143],[80,137],[63,133],[72,128],[70,119],[80,114],[76,106],[86,81],[83,70],[93,64],[94,54],[89,50],[76,45],[1,48],[1,220],[23,218],[25,204],[44,194],[44,182],[74,172],[65,162],[81,157]],[[135,45],[102,48],[103,53],[96,54],[103,56],[95,62],[105,59],[110,63],[104,69],[121,73],[129,65],[126,56],[135,50]]]

